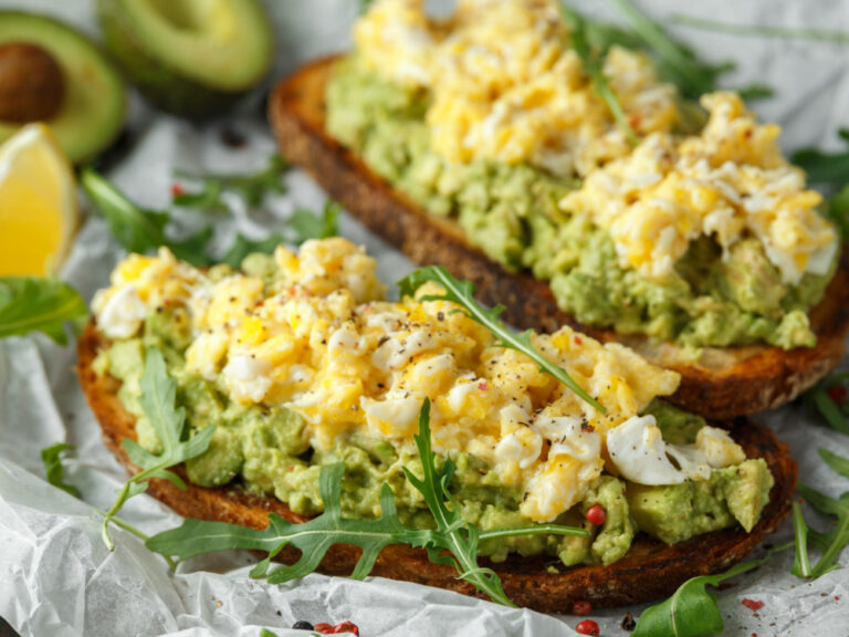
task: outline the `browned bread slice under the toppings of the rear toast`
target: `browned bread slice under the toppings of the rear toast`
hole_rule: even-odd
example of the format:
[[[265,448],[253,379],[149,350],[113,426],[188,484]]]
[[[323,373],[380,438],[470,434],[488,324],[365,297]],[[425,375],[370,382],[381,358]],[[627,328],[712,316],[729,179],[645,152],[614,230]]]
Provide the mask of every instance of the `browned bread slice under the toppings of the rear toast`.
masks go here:
[[[784,351],[743,346],[705,349],[699,363],[672,343],[581,325],[557,307],[548,284],[514,273],[471,246],[450,219],[428,215],[394,190],[325,129],[325,84],[336,58],[303,66],[281,82],[269,103],[269,117],[283,155],[359,218],[371,231],[413,261],[448,268],[478,286],[478,300],[507,307],[504,318],[521,328],[554,332],[566,324],[601,342],[623,343],[652,363],[681,374],[670,398],[688,411],[726,420],[778,407],[828,375],[843,356],[849,328],[849,255],[841,257],[824,300],[810,314],[816,347]]]

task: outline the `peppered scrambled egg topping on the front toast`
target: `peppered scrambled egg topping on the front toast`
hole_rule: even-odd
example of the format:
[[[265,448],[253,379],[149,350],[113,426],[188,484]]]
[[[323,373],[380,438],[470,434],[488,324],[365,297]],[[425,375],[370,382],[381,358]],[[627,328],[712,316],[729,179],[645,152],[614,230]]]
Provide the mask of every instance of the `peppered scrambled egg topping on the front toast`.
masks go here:
[[[97,325],[129,338],[151,313],[181,309],[193,333],[187,370],[235,403],[301,414],[318,449],[361,434],[410,451],[428,397],[434,449],[489,462],[505,485],[523,490],[520,510],[535,521],[580,502],[605,468],[623,473],[656,462],[656,441],[635,442],[611,461],[607,440],[635,419],[653,424],[638,414],[675,390],[675,373],[568,327],[533,335],[539,352],[598,398],[602,415],[524,354],[493,346],[490,332],[452,303],[385,301],[374,260],[347,240],[307,241],[300,254],[280,247],[274,261],[279,274],[263,281],[234,271],[212,276],[166,249],[130,255],[95,296]],[[711,449],[711,466],[738,456]]]

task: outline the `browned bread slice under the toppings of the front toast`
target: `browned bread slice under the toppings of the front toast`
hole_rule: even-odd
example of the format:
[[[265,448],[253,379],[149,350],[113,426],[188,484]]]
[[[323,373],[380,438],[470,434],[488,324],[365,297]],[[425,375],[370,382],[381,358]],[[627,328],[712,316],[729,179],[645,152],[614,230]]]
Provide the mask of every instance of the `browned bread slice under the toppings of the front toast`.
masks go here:
[[[97,376],[93,363],[97,352],[108,346],[94,322],[85,328],[77,344],[77,375],[88,405],[103,430],[103,439],[115,457],[130,471],[138,472],[122,446],[124,438],[135,439],[135,418],[124,409],[117,397],[120,383],[105,375]],[[573,604],[586,599],[596,607],[638,604],[670,595],[682,582],[726,570],[755,549],[764,537],[778,528],[790,511],[796,488],[796,463],[786,445],[772,431],[745,420],[731,424],[734,439],[748,457],[764,458],[775,478],[769,503],[751,533],[740,526],[691,539],[672,546],[639,534],[625,558],[610,566],[578,566],[555,568],[556,558],[511,555],[505,562],[490,563],[502,579],[504,591],[516,604],[546,613],[569,613]],[[177,472],[185,479],[182,468]],[[151,480],[147,492],[177,513],[201,520],[218,520],[254,529],[268,525],[268,513],[274,512],[292,521],[306,519],[292,512],[274,498],[256,498],[241,487],[205,489],[188,484],[181,491],[166,480]],[[333,546],[321,564],[331,575],[348,575],[359,556],[359,549]],[[297,552],[287,547],[282,561],[294,561]],[[377,558],[373,575],[406,579],[473,595],[474,588],[458,579],[450,566],[432,564],[423,550],[402,545],[386,547]]]

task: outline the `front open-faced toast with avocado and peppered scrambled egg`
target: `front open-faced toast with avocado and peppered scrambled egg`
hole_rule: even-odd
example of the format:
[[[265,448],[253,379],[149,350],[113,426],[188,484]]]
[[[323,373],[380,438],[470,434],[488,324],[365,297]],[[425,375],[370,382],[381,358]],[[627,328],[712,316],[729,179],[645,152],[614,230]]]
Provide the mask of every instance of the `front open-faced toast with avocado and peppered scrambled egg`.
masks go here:
[[[94,299],[80,379],[106,443],[137,471],[122,442],[161,449],[140,397],[147,352],[161,353],[188,435],[216,429],[178,469],[188,490],[151,480],[148,492],[184,515],[252,528],[269,512],[321,513],[318,474],[335,462],[344,516],[379,516],[389,484],[401,522],[429,528],[402,470],[421,471],[412,437],[429,401],[463,519],[481,531],[558,522],[588,532],[481,543],[510,598],[542,610],[667,595],[740,560],[787,515],[796,468],[769,431],[709,426],[668,405],[678,374],[618,343],[567,326],[531,334],[569,389],[500,346],[467,306],[433,299],[442,291],[428,282],[386,301],[374,260],[344,239],[253,254],[242,270],[196,269],[166,249],[132,254]],[[337,545],[322,570],[348,574],[357,558]],[[386,547],[373,573],[473,591],[407,546]]]

